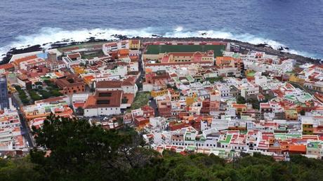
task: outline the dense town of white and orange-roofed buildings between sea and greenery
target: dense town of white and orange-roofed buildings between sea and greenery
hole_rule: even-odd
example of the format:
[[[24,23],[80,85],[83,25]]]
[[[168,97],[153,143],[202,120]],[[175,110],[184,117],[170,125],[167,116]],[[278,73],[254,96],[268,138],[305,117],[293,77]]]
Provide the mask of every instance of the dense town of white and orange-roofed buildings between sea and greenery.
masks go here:
[[[136,128],[157,152],[323,156],[323,66],[224,41],[81,43],[0,65],[0,152],[46,117]]]

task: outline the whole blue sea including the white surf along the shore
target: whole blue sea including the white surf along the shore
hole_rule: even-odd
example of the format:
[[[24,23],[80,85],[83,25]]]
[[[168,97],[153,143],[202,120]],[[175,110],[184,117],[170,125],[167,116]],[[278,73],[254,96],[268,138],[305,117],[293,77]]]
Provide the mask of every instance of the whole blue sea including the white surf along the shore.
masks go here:
[[[321,0],[1,0],[0,53],[89,36],[206,36],[323,58]]]

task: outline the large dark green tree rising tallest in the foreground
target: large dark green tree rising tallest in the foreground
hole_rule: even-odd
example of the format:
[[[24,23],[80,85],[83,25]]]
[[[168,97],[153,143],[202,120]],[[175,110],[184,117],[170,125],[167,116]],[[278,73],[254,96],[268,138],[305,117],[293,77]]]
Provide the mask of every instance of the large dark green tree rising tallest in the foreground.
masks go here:
[[[145,148],[136,131],[117,132],[88,121],[48,116],[32,128],[39,147],[30,152],[45,180],[131,180],[128,172],[145,166],[156,153]]]

